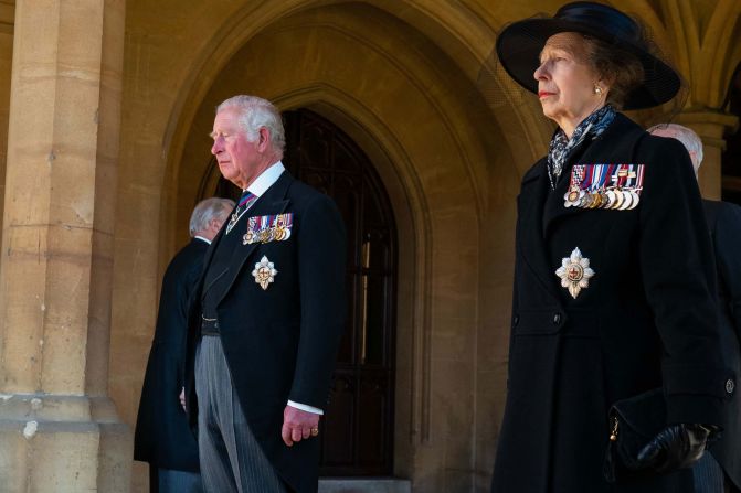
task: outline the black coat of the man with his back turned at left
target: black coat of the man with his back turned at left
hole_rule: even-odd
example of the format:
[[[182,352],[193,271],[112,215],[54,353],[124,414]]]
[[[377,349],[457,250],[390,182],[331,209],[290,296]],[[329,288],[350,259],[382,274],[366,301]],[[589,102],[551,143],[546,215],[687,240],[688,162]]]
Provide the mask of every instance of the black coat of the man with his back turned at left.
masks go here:
[[[134,459],[160,469],[199,471],[198,443],[180,406],[188,306],[209,244],[191,239],[165,271],[155,340],[141,389]]]

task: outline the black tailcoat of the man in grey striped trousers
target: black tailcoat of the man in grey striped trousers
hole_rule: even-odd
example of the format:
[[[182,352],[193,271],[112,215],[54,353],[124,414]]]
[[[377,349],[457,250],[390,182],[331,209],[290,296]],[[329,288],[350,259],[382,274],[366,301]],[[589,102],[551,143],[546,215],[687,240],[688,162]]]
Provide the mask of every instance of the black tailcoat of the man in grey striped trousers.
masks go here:
[[[240,219],[230,235],[247,231],[247,217],[293,213],[293,232],[284,242],[243,245],[232,254],[226,290],[219,296],[219,331],[247,422],[278,474],[298,493],[317,491],[319,440],[286,447],[280,438],[288,399],[327,408],[337,347],[345,326],[345,226],[328,196],[284,171]],[[221,229],[205,257],[224,235]],[[252,275],[265,256],[278,274],[266,290]],[[203,279],[198,292],[202,292]],[[209,287],[207,286],[205,289]],[[188,409],[197,424],[193,385],[201,297],[191,307],[188,336]]]

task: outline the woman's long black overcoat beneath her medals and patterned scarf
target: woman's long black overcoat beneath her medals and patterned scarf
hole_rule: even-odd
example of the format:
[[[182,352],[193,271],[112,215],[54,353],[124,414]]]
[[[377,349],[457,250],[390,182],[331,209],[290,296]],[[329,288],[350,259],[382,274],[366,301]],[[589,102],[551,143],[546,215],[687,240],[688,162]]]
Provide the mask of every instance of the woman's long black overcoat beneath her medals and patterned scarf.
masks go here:
[[[564,207],[574,163],[645,165],[637,207]],[[663,386],[670,422],[720,424],[713,257],[687,151],[617,115],[551,191],[546,160],[518,196],[508,394],[495,493],[691,492],[691,471],[617,486],[602,476],[610,406]],[[573,299],[574,248],[594,277]]]

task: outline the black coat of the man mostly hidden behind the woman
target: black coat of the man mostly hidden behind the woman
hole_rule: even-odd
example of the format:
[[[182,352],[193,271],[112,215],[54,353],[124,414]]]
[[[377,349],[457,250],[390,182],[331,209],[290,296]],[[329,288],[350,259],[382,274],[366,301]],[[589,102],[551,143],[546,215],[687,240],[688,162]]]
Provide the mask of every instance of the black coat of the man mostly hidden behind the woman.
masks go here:
[[[722,329],[723,358],[741,372],[741,207],[728,202],[702,201],[718,266],[718,323]],[[710,451],[737,487],[741,489],[741,393],[727,406],[722,438]]]

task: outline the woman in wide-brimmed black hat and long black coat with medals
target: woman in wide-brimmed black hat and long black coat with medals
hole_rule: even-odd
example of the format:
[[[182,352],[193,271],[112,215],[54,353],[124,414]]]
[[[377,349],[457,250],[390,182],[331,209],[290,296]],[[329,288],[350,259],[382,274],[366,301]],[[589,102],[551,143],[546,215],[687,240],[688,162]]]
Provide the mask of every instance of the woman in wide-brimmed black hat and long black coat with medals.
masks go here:
[[[510,24],[497,53],[559,128],[518,197],[493,492],[692,492],[688,468],[735,387],[712,249],[686,150],[617,112],[670,100],[679,77],[635,21],[591,2]],[[611,406],[653,388],[665,422],[607,481]]]

